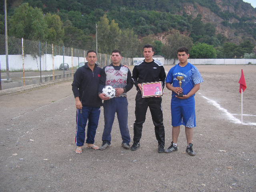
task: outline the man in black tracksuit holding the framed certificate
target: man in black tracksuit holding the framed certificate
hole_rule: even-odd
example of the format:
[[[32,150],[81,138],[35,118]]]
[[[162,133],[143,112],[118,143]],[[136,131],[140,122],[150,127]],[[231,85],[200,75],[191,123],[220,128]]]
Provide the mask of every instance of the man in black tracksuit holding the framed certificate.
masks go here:
[[[165,70],[161,62],[153,59],[154,48],[150,44],[146,44],[143,48],[144,61],[137,62],[132,71],[132,80],[137,88],[135,98],[135,117],[134,137],[131,150],[135,151],[140,147],[140,138],[142,135],[142,126],[146,120],[146,112],[149,107],[152,120],[155,126],[156,140],[158,141],[158,152],[164,152],[164,124],[162,112],[161,96],[142,98],[142,84],[147,82],[162,81],[162,90],[165,85]]]

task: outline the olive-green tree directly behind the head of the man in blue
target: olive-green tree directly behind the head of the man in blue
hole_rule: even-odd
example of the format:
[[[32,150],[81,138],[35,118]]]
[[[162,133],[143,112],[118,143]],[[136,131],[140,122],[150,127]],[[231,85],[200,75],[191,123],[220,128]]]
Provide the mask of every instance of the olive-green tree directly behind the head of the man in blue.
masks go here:
[[[175,32],[174,34],[167,36],[166,44],[162,47],[162,53],[166,59],[174,58],[175,63],[178,48],[185,46],[190,50],[192,45],[193,41],[190,37],[180,34],[179,32]]]

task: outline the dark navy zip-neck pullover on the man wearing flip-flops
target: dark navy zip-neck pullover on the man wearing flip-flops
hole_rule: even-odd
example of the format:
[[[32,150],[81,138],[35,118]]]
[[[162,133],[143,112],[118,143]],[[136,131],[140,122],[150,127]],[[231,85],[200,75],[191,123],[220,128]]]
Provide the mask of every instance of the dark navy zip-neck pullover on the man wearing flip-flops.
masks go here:
[[[98,97],[100,74],[102,68],[95,64],[93,71],[86,62],[84,66],[78,68],[74,74],[72,91],[74,97],[79,97],[83,106],[100,107],[102,100]]]

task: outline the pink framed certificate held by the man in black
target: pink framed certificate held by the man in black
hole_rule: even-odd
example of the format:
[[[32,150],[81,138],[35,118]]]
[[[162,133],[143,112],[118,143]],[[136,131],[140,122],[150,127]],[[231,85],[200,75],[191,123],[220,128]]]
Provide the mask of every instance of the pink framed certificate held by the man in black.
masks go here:
[[[163,96],[162,81],[142,83],[142,97]]]

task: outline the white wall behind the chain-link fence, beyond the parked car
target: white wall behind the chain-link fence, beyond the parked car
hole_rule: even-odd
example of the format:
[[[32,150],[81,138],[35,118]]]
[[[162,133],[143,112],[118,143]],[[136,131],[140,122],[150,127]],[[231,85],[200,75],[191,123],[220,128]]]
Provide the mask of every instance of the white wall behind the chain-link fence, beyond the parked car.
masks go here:
[[[68,63],[71,67],[71,56],[64,56],[64,63]],[[0,55],[1,70],[6,70],[6,56]],[[79,62],[86,62],[84,57],[79,58]],[[63,56],[54,56],[54,69],[58,69],[60,64],[63,63]],[[22,55],[9,55],[8,56],[9,70],[22,70]],[[78,57],[73,57],[73,66],[78,66]],[[24,56],[24,68],[25,70],[40,70],[40,58],[33,58],[32,55]],[[44,54],[41,57],[41,69],[52,70],[52,55]]]

